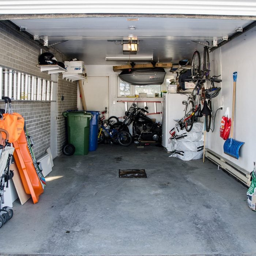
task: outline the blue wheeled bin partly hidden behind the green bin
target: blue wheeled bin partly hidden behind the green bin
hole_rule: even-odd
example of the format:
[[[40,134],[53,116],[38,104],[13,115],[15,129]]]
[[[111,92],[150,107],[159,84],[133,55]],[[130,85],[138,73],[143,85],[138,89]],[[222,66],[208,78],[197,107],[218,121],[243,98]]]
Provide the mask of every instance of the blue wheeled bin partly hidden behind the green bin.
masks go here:
[[[89,111],[92,117],[90,120],[90,132],[89,132],[89,151],[95,151],[98,147],[98,121],[99,121],[99,111]]]

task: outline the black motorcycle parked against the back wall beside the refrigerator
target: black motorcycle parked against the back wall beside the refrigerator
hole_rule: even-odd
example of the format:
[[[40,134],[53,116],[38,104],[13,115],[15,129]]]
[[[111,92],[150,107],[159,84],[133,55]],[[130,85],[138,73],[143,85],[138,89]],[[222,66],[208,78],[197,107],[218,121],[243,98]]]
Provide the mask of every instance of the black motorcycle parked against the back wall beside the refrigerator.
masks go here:
[[[161,143],[162,125],[147,117],[147,107],[138,108],[135,103],[125,112],[124,121],[117,122],[119,131],[127,131],[132,123],[132,137],[135,143]]]

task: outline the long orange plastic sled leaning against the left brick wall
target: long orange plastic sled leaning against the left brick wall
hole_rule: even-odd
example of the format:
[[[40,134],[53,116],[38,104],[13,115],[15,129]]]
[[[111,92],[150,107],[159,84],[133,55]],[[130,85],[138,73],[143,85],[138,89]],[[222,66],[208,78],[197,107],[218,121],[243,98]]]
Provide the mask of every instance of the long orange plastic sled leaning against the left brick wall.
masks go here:
[[[12,144],[15,148],[13,156],[19,170],[23,187],[25,192],[31,195],[35,204],[39,200],[39,195],[44,192],[44,189],[33,165],[24,130],[20,134],[19,139]]]

